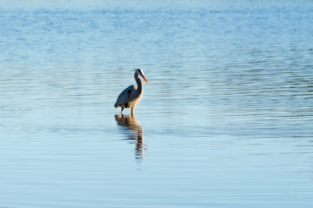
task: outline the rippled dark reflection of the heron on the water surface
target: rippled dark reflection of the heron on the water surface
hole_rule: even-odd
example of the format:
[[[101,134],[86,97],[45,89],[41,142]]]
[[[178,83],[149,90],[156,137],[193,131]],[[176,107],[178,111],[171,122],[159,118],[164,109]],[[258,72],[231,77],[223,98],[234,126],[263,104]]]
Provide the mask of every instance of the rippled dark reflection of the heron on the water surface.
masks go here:
[[[136,160],[144,160],[145,159],[145,151],[147,150],[144,148],[146,145],[143,143],[143,128],[142,126],[136,121],[135,116],[132,115],[118,115],[115,114],[115,120],[117,124],[123,128],[123,132],[126,136],[126,140],[135,141],[135,157]]]

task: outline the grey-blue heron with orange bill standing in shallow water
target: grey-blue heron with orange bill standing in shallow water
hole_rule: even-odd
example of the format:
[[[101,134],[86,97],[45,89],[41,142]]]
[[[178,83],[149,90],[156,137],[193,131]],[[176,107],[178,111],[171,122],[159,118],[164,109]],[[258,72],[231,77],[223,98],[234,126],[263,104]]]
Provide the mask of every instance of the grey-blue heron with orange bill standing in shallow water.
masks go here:
[[[141,99],[143,92],[143,84],[140,76],[149,85],[142,69],[135,69],[134,71],[135,74],[133,74],[133,77],[135,77],[137,86],[130,85],[125,90],[123,90],[114,105],[115,108],[122,108],[121,114],[123,114],[122,112],[125,108],[130,108],[131,115],[133,115],[133,110],[135,109],[137,102]]]

